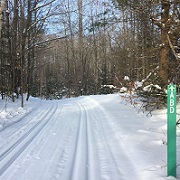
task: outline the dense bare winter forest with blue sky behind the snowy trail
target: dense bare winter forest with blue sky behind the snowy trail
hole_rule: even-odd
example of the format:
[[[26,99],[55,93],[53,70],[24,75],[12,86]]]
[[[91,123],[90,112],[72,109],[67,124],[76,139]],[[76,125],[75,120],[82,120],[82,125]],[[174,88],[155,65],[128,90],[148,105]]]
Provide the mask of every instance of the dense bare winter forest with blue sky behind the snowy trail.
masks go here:
[[[180,84],[179,0],[0,0],[2,98],[97,94],[124,77]]]

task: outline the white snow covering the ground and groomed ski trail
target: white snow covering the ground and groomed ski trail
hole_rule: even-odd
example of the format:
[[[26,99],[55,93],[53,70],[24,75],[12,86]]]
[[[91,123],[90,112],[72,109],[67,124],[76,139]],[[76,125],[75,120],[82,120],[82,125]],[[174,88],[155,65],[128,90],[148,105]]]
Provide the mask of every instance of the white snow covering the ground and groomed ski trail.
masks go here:
[[[166,174],[166,109],[148,117],[119,94],[6,105],[0,101],[2,180],[176,179]]]

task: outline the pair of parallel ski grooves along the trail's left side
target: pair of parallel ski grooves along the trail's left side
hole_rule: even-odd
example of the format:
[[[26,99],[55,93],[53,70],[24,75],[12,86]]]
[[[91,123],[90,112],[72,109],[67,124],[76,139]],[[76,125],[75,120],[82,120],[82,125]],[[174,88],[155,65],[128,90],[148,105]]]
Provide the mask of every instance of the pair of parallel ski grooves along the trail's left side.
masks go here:
[[[0,176],[11,166],[11,164],[28,147],[33,139],[43,130],[57,109],[58,104],[53,104],[51,109],[41,117],[41,120],[37,124],[35,124],[20,139],[18,139],[8,149],[0,154]]]

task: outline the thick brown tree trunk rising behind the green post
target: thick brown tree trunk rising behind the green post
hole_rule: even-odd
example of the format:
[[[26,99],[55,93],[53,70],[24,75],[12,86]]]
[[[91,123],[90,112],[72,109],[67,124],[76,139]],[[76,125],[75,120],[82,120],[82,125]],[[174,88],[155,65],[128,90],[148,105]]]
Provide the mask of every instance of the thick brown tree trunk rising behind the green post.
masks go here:
[[[160,44],[160,61],[159,61],[159,76],[161,86],[165,87],[169,80],[172,80],[170,75],[170,54],[174,50],[173,45],[180,38],[180,23],[179,13],[180,3],[178,0],[169,1],[162,0],[160,19],[153,19],[155,24],[161,30],[161,44]],[[176,56],[176,53],[174,53]],[[176,58],[178,60],[178,58]],[[171,67],[171,68],[175,68]]]

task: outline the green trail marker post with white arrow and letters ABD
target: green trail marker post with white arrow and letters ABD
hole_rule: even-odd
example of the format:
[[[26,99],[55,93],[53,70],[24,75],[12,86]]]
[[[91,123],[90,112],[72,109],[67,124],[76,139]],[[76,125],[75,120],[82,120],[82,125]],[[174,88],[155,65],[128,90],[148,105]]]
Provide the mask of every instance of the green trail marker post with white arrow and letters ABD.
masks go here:
[[[167,175],[176,177],[176,85],[167,91]]]

